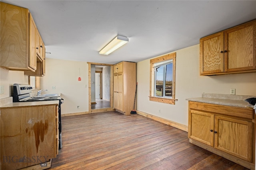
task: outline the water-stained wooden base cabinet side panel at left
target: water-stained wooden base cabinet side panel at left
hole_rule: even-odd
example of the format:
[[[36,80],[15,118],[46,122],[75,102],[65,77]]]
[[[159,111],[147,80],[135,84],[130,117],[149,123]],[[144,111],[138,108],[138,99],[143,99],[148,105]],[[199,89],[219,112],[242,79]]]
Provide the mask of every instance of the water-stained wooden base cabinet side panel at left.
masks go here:
[[[49,162],[58,154],[58,101],[1,107],[0,132],[2,170]]]

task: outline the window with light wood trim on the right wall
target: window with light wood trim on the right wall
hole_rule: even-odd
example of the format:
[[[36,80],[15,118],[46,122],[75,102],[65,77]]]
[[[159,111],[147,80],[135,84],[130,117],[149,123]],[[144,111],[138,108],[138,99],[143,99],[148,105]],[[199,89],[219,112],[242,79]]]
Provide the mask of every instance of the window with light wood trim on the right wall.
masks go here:
[[[150,100],[175,104],[176,53],[150,60]]]

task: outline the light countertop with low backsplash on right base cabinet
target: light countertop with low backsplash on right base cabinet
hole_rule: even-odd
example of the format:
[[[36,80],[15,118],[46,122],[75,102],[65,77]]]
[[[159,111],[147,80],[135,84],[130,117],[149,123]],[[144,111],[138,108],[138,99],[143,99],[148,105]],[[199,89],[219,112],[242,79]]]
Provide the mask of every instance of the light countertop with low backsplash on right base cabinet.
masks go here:
[[[253,105],[245,102],[248,98],[256,98],[256,96],[243,96],[243,95],[230,95],[230,94],[210,94],[202,93],[202,97],[187,98],[188,101],[202,102],[209,104],[219,104],[234,107],[254,107]]]

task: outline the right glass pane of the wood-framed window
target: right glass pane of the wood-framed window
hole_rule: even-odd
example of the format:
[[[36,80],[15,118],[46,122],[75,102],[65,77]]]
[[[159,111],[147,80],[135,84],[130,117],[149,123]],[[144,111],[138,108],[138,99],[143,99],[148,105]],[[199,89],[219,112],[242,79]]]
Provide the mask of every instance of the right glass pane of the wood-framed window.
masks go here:
[[[165,96],[172,96],[172,63],[166,65]]]

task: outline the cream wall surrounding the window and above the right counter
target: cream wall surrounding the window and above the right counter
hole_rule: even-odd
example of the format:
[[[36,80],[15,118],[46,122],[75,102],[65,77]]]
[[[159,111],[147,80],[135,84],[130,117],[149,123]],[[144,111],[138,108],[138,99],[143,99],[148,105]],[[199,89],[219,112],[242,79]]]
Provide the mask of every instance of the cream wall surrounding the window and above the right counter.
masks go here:
[[[150,59],[137,63],[137,110],[188,125],[188,101],[202,93],[256,96],[256,72],[200,76],[199,44],[176,52],[175,105],[149,101]],[[159,56],[156,56],[159,57]],[[161,113],[158,113],[158,110]]]

